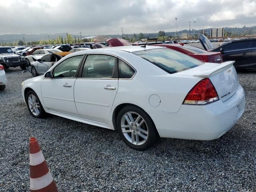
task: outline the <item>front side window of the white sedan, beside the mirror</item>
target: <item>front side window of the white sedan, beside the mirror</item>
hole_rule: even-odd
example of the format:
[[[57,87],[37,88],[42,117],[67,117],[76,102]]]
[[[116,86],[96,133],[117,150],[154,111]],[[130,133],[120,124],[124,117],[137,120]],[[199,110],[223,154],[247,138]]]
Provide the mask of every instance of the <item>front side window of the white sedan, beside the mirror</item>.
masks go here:
[[[53,76],[59,78],[74,77],[76,75],[78,65],[82,60],[82,57],[82,55],[78,55],[62,61],[54,68]]]

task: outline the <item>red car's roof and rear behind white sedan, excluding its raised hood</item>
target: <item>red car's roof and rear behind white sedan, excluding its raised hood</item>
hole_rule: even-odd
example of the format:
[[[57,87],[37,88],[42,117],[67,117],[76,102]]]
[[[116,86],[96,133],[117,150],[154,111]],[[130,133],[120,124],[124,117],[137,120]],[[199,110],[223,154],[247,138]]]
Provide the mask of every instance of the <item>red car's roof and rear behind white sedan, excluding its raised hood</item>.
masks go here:
[[[210,52],[210,51],[206,51],[191,45],[182,46],[180,44],[157,44],[152,46],[162,46],[172,50],[176,50],[178,52],[184,53],[186,55],[194,57],[203,62],[208,62],[208,63],[223,62],[222,54],[220,52]]]

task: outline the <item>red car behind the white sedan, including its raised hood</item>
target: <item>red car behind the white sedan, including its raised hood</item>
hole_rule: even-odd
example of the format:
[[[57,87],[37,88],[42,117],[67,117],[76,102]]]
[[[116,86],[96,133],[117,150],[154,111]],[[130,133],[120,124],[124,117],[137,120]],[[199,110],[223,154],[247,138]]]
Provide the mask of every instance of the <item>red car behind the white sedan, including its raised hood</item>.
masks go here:
[[[132,46],[128,41],[120,38],[111,38],[107,40],[110,47],[117,46]],[[153,44],[149,43],[150,46],[164,46],[166,48],[176,50],[178,52],[184,53],[191,57],[194,57],[203,62],[209,63],[221,63],[222,62],[222,54],[220,52],[209,52],[194,46],[183,46],[182,44]],[[145,44],[138,44],[140,46]]]

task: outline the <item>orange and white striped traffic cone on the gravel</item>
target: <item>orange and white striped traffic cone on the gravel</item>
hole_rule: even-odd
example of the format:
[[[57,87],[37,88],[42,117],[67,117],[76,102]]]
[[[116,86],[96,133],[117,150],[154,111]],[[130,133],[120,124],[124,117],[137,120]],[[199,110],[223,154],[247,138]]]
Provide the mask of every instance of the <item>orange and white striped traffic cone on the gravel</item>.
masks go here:
[[[29,139],[30,192],[58,192],[35,137]]]

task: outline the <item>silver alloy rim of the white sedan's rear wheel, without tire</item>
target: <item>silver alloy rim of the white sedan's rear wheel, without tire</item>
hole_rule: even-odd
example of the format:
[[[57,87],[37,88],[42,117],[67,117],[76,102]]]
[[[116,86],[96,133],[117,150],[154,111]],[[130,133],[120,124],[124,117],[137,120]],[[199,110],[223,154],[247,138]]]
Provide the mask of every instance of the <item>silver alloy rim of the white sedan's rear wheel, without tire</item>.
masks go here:
[[[135,112],[127,112],[122,116],[121,129],[125,138],[134,145],[142,145],[148,140],[146,121]]]

